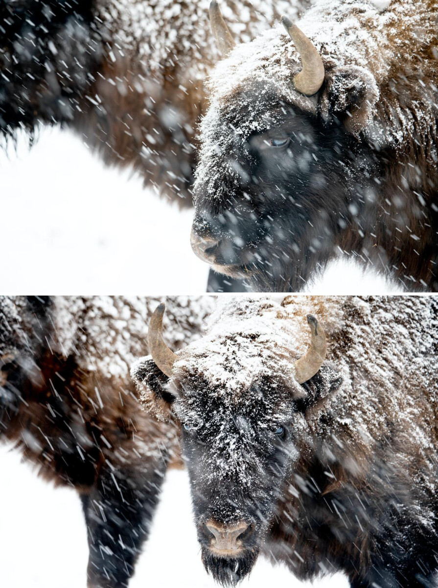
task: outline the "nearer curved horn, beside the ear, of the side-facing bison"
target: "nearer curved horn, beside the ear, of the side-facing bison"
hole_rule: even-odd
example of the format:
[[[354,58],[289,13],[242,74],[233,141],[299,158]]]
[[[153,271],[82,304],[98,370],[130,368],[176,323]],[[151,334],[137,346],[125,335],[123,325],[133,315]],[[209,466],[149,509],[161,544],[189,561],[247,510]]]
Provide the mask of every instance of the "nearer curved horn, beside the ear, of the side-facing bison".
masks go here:
[[[324,82],[324,64],[312,41],[300,31],[297,25],[286,16],[281,17],[281,22],[288,35],[294,41],[302,62],[302,70],[294,77],[295,89],[306,96],[312,96],[318,92]]]

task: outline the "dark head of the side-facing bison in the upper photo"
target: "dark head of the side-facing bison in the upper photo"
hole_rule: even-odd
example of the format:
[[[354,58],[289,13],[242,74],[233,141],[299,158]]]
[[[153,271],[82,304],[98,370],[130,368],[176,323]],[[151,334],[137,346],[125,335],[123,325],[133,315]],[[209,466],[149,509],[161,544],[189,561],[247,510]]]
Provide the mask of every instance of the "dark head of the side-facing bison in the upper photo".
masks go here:
[[[208,81],[192,247],[252,288],[297,291],[365,214],[379,172],[359,137],[376,82],[362,66],[323,60],[287,18],[286,32],[277,26],[234,47],[217,2],[210,10],[228,57]]]

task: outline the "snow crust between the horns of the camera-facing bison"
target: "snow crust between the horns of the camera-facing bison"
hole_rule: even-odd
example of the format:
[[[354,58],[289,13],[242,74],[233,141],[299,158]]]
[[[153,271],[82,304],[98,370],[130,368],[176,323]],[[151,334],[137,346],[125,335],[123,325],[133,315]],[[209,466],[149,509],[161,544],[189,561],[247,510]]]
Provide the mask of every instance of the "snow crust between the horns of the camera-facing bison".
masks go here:
[[[208,334],[190,343],[175,364],[176,374],[201,373],[224,402],[237,402],[255,379],[293,376],[291,354],[302,355],[310,334],[305,319],[279,318],[272,297],[235,298],[218,303],[206,322]]]

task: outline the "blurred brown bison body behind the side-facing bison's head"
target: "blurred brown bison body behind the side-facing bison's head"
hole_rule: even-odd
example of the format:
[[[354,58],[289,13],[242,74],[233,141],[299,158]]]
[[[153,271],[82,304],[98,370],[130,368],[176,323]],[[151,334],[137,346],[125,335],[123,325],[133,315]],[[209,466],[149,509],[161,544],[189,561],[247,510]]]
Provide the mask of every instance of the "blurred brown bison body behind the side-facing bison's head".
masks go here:
[[[107,163],[191,205],[194,128],[203,79],[220,54],[210,0],[0,2],[0,131],[65,123]],[[308,0],[230,0],[233,33],[250,40]]]

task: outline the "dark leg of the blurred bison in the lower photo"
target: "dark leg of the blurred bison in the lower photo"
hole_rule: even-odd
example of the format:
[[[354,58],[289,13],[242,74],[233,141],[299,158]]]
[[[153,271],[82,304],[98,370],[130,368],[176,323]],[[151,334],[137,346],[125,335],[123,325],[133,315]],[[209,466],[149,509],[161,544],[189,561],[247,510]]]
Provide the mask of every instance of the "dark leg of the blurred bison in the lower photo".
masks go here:
[[[88,588],[127,587],[149,534],[166,467],[162,460],[106,472],[82,496],[90,550]]]

